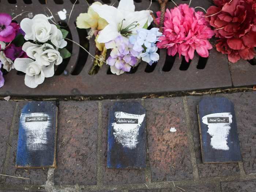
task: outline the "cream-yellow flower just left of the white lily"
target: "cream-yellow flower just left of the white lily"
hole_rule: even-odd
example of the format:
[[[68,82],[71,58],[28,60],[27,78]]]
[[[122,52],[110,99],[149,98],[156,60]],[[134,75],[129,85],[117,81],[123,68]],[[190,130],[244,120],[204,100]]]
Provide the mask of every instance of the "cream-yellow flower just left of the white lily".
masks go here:
[[[93,4],[102,5],[99,2],[95,2]],[[87,13],[81,13],[76,18],[76,26],[80,29],[94,28],[97,30],[102,30],[106,25],[108,25],[108,22],[106,22],[105,19],[100,18],[91,7],[88,8]]]

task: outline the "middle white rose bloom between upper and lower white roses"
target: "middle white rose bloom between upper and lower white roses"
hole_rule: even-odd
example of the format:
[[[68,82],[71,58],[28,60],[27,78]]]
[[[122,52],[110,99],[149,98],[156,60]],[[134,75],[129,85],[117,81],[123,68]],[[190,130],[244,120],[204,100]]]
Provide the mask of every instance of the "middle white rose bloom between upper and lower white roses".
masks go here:
[[[63,61],[63,58],[60,56],[60,52],[47,43],[43,45],[36,45],[26,42],[23,45],[22,50],[25,51],[29,57],[36,60],[41,66],[48,66],[52,63],[59,65]]]

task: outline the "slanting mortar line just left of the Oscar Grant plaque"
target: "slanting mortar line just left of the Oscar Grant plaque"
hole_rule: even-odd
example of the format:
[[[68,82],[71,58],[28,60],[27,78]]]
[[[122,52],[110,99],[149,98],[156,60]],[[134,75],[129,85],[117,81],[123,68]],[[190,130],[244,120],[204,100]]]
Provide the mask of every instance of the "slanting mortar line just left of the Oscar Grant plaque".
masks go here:
[[[186,125],[187,125],[188,146],[189,146],[189,151],[190,151],[190,156],[191,156],[190,159],[191,159],[192,168],[193,168],[193,177],[194,177],[194,180],[198,180],[199,174],[198,174],[198,168],[197,168],[197,163],[196,163],[196,153],[195,153],[195,149],[194,149],[194,141],[193,141],[193,134],[192,134],[192,130],[191,130],[191,121],[190,121],[190,116],[189,116],[187,97],[183,97],[182,100],[183,100],[185,120],[186,120]]]

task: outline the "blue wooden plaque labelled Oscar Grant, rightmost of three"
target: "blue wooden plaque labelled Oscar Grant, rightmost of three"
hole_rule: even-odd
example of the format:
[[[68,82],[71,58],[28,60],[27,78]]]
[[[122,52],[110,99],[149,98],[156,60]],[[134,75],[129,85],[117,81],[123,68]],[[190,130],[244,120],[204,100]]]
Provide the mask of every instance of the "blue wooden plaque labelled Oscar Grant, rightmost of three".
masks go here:
[[[203,163],[241,161],[233,103],[224,97],[203,98],[197,114]]]

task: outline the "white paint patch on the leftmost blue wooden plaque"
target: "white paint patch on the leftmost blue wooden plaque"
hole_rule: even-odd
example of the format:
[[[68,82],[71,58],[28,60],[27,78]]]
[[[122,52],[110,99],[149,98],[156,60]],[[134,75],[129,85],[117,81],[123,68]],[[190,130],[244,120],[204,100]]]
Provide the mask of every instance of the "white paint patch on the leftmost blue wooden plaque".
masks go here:
[[[39,117],[45,118],[47,121],[38,121]],[[22,113],[20,115],[20,123],[24,128],[24,139],[26,139],[29,151],[46,149],[47,133],[52,129],[51,122],[52,116],[46,113]]]

